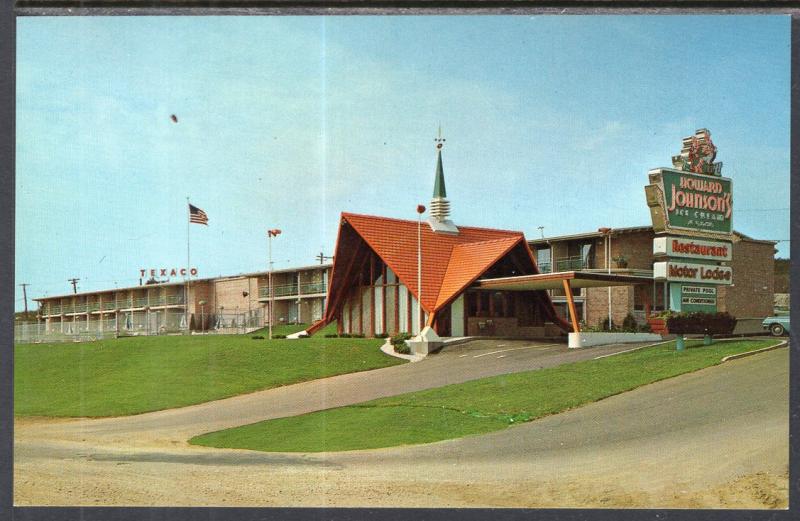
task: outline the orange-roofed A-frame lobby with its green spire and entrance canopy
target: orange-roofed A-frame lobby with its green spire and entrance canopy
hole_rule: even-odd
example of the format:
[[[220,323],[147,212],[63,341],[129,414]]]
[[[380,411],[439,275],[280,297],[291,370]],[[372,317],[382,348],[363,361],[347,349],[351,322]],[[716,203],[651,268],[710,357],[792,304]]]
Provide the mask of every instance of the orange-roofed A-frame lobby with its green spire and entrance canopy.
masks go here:
[[[557,337],[580,330],[573,295],[652,283],[633,272],[545,271],[522,232],[456,225],[438,148],[428,219],[341,215],[325,317],[310,333],[335,321],[365,336],[430,326],[440,337]]]

